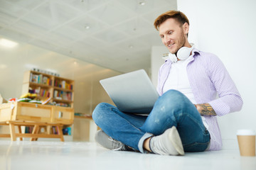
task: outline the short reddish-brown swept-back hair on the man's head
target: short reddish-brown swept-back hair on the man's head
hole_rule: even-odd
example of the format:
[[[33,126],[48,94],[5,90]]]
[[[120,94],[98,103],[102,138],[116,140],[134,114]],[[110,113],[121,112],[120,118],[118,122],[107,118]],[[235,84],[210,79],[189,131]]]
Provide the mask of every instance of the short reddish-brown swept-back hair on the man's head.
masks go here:
[[[159,30],[159,26],[161,25],[161,23],[164,23],[164,21],[166,21],[169,18],[176,19],[176,21],[180,23],[181,26],[183,26],[184,23],[188,23],[189,26],[189,21],[186,15],[181,11],[173,10],[167,11],[166,13],[162,13],[159,17],[156,18],[156,20],[154,21],[154,27],[156,28],[156,30]]]

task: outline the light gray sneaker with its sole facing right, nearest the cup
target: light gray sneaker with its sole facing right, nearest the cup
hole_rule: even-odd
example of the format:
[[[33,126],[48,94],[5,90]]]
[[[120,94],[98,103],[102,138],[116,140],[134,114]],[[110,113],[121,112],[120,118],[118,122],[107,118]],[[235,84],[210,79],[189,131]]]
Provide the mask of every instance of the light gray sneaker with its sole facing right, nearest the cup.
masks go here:
[[[162,135],[152,137],[149,147],[155,154],[184,155],[181,137],[175,126],[166,130]]]

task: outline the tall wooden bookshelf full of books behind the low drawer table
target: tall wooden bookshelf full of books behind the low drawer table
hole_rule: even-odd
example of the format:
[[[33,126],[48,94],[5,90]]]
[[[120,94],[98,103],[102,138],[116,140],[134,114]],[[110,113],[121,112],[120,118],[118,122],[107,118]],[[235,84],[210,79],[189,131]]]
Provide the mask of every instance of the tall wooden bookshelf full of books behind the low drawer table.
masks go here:
[[[22,94],[37,94],[36,99],[41,101],[49,99],[50,105],[63,106],[55,109],[53,119],[55,123],[63,124],[64,138],[72,138],[73,136],[71,130],[73,126],[71,125],[72,123],[70,124],[69,116],[71,112],[74,114],[74,84],[75,81],[71,79],[55,77],[50,74],[32,70],[25,72],[23,76]],[[62,118],[59,118],[60,113]],[[48,126],[47,132],[49,134],[55,134],[56,128],[54,126]]]

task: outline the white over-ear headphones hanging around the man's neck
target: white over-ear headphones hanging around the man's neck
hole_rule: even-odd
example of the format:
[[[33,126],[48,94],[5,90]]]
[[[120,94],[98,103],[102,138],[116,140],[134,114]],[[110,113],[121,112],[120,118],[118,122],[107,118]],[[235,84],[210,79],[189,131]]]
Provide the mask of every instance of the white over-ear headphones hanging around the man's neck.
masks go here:
[[[180,49],[178,49],[177,56],[169,52],[168,57],[171,60],[171,62],[178,62],[178,59],[186,60],[190,56],[191,51],[195,48],[195,45],[193,43],[191,43],[190,45],[191,47],[181,47]]]

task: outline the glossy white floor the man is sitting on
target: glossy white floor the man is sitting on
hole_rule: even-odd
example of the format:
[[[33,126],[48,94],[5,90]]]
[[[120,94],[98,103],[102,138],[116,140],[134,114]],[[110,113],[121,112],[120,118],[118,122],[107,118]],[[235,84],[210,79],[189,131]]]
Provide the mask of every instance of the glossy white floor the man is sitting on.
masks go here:
[[[95,142],[28,142],[0,140],[0,169],[256,169],[256,157],[238,149],[161,156],[114,152]]]

